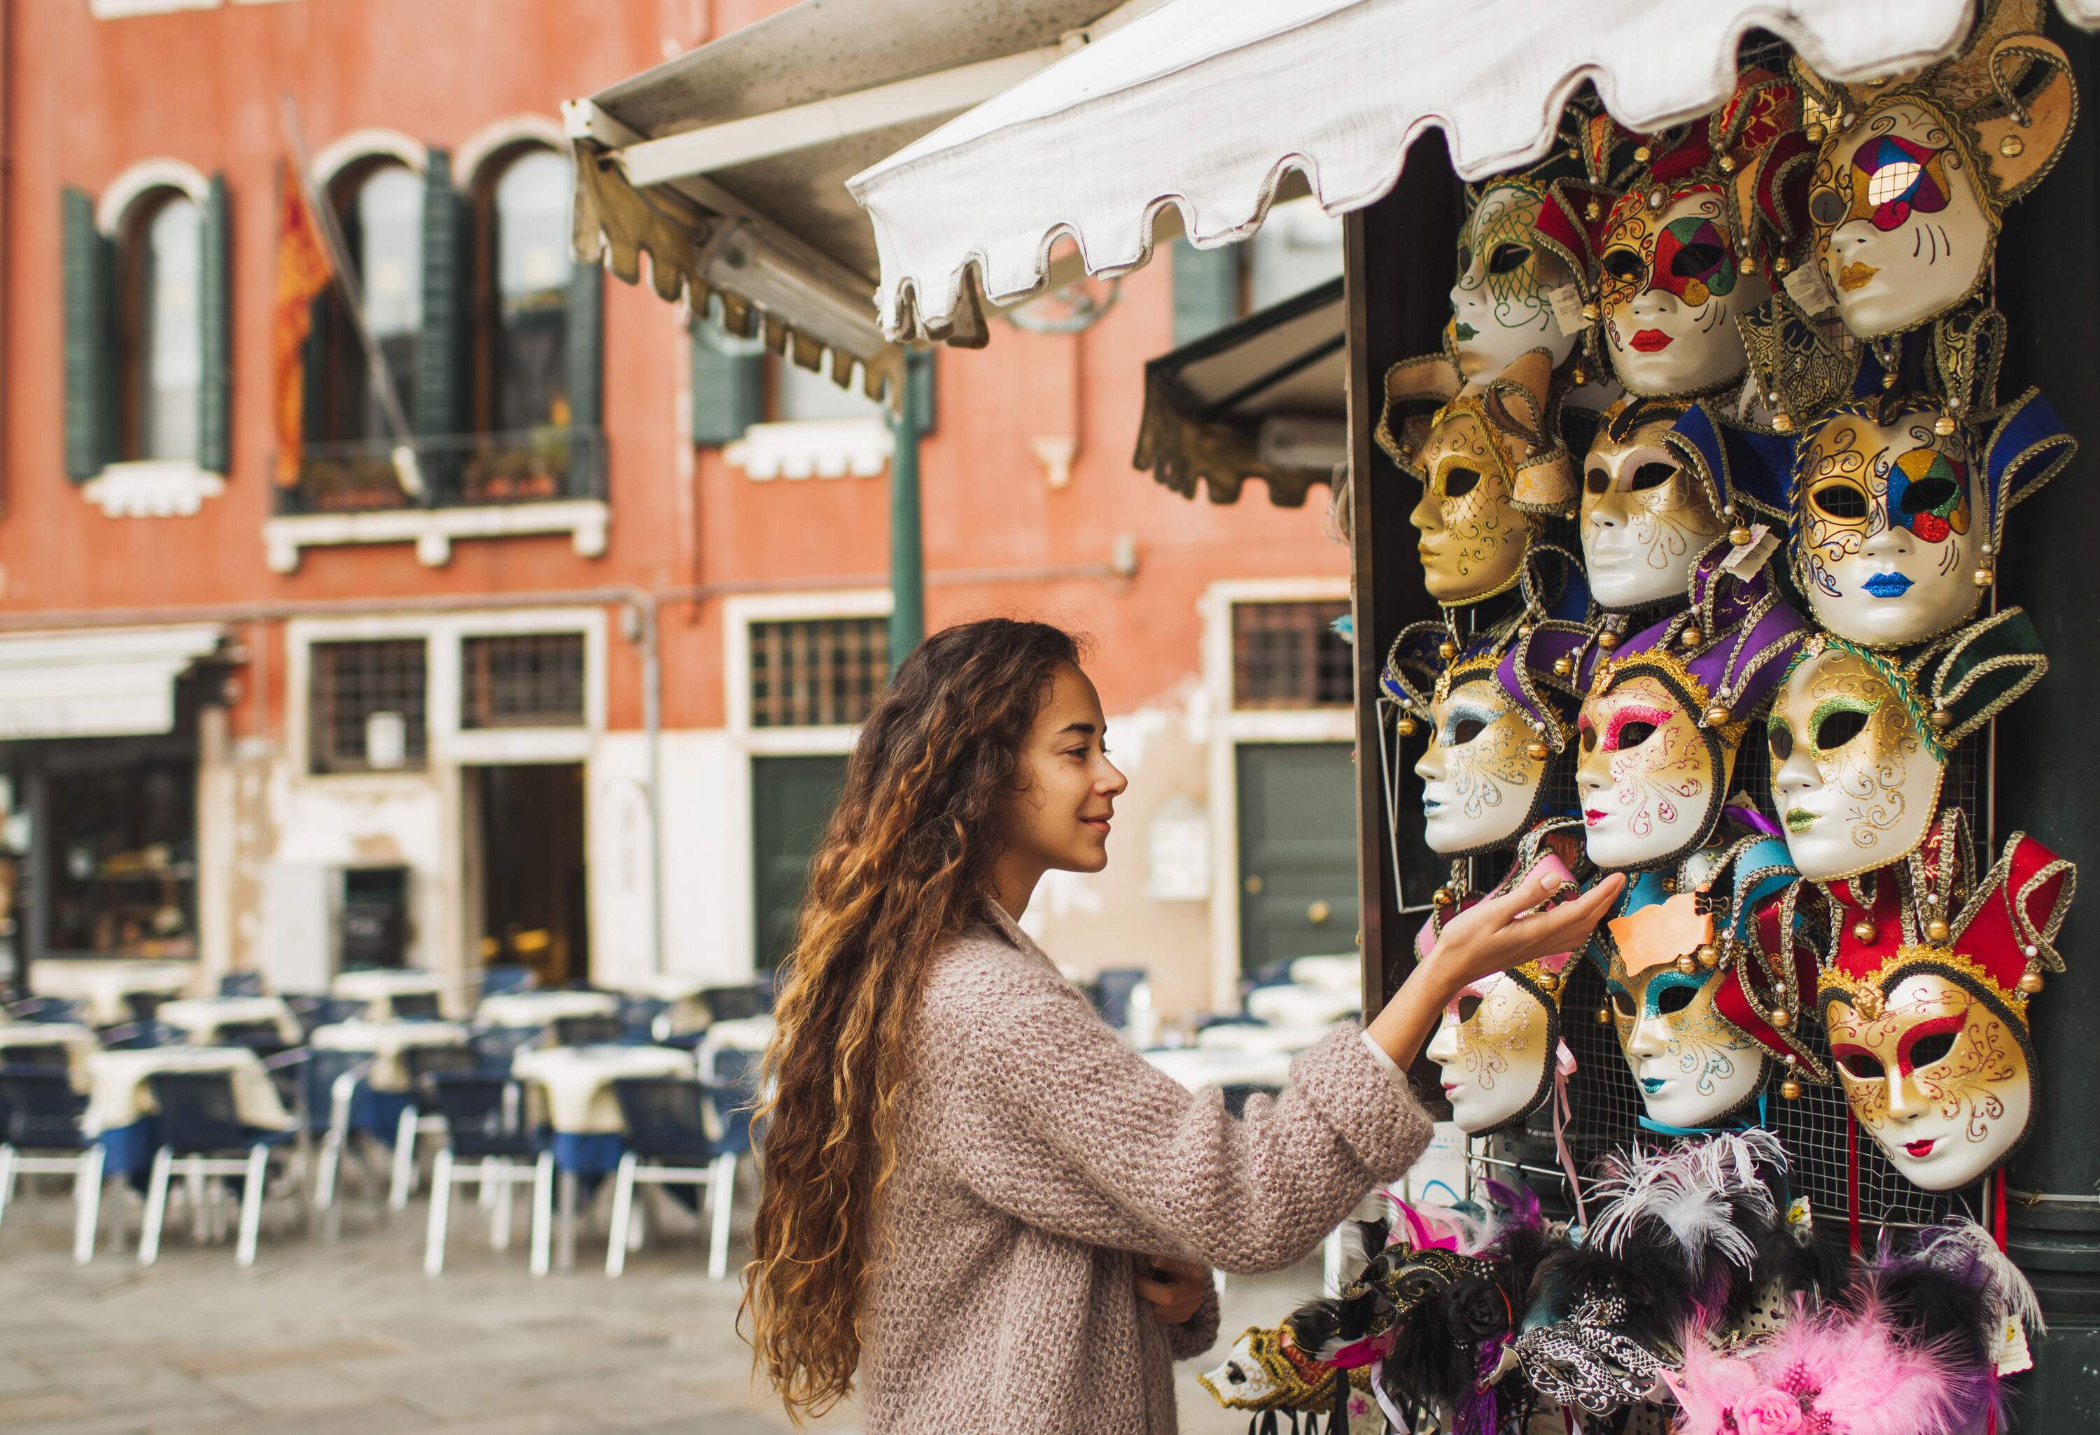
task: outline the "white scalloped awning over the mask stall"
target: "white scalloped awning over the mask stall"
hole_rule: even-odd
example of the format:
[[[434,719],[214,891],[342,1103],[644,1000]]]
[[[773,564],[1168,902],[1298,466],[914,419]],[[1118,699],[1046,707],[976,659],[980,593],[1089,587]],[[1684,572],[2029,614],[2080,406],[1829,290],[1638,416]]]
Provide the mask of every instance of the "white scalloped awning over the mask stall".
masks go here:
[[[2100,0],[2058,0],[2100,23]],[[1294,172],[1329,214],[1445,132],[1464,179],[1546,153],[1583,80],[1634,130],[1716,109],[1766,29],[1867,80],[1951,55],[1974,0],[1168,0],[848,181],[876,227],[890,338],[979,342],[981,300],[1050,279],[1069,235],[1119,275],[1178,227],[1243,240]],[[1159,223],[1155,231],[1155,221]]]

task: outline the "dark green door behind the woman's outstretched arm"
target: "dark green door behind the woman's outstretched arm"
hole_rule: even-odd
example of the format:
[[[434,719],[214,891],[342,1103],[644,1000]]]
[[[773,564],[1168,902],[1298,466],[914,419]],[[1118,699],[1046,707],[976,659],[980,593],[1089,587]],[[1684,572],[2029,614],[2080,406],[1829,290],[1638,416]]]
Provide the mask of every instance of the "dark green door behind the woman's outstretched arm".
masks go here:
[[[1239,964],[1357,950],[1357,775],[1346,742],[1241,744]]]

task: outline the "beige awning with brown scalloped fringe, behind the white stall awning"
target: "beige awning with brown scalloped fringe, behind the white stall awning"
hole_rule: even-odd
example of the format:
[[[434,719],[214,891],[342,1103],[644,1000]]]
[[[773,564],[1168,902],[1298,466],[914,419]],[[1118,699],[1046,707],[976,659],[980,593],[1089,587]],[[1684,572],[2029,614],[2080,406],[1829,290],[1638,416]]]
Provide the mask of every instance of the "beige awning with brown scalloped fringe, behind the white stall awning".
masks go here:
[[[855,170],[1159,0],[802,0],[569,101],[575,254],[876,397],[899,374]]]

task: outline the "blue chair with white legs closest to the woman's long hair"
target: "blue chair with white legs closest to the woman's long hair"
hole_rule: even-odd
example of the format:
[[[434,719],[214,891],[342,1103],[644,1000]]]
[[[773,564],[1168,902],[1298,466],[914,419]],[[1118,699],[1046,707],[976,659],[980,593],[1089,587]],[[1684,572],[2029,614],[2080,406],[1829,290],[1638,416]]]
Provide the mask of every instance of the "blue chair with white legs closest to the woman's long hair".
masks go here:
[[[704,1103],[716,1093],[685,1076],[626,1078],[613,1082],[620,1116],[628,1126],[628,1151],[613,1179],[611,1235],[605,1242],[605,1273],[628,1265],[628,1229],[634,1221],[634,1187],[706,1187],[712,1233],[708,1238],[708,1280],[729,1273],[729,1212],[737,1189],[737,1156],[750,1151],[750,1114],[731,1135],[731,1114],[716,1105],[724,1135],[708,1135]]]

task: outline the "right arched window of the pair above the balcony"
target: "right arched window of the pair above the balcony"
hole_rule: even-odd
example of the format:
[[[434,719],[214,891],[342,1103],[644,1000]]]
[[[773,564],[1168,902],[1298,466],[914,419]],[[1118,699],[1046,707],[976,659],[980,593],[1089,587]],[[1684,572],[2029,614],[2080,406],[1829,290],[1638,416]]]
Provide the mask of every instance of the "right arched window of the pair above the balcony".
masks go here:
[[[571,193],[569,158],[540,145],[485,168],[472,345],[475,418],[485,433],[578,420],[569,393]]]

